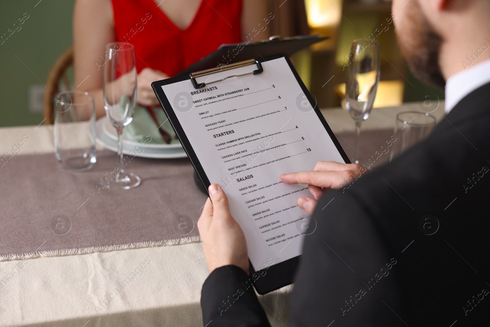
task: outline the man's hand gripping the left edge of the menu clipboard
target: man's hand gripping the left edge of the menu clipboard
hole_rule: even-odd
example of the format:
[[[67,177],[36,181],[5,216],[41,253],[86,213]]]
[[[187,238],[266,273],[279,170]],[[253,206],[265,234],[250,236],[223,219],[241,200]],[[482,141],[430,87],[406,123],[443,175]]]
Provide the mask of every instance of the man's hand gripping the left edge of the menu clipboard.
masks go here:
[[[245,235],[231,216],[228,198],[218,184],[211,184],[208,191],[212,202],[208,199],[204,204],[197,228],[209,273],[222,266],[235,265],[248,275]]]

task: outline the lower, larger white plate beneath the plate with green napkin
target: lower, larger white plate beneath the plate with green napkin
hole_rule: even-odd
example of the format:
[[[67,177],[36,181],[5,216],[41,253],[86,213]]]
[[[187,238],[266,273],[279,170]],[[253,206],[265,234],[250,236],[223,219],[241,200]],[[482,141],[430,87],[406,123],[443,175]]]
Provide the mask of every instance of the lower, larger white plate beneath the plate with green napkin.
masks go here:
[[[100,118],[96,122],[96,133],[97,133],[97,143],[102,145],[104,148],[109,149],[111,151],[117,152],[117,140],[110,138],[103,132],[103,125],[105,124],[105,120],[107,117]],[[133,145],[134,144],[134,145]],[[173,144],[172,144],[173,145]],[[139,146],[143,149],[143,152],[138,153],[135,150],[135,147]],[[178,148],[167,148],[167,149],[154,149],[147,146],[143,147],[137,142],[132,142],[132,144],[126,143],[126,140],[123,140],[123,153],[130,155],[131,151],[136,152],[137,157],[143,158],[155,158],[155,159],[175,159],[175,158],[185,158],[187,154],[185,153],[182,146],[179,144]]]

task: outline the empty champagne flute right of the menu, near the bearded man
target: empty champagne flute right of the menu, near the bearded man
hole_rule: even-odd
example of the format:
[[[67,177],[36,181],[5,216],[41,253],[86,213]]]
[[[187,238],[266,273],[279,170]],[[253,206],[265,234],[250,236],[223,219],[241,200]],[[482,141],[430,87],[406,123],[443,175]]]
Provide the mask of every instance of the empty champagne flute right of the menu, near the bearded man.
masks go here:
[[[347,67],[345,101],[347,110],[356,123],[356,141],[352,160],[356,164],[359,164],[361,123],[368,119],[378,90],[379,60],[378,42],[365,39],[357,39],[352,42]]]

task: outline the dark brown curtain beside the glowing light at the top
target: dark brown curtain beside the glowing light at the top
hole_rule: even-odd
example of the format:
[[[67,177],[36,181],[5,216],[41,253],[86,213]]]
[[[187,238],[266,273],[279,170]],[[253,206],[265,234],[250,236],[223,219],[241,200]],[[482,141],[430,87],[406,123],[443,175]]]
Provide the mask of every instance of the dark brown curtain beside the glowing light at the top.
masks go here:
[[[310,34],[304,0],[268,0],[268,8],[274,15],[270,21],[270,35]]]

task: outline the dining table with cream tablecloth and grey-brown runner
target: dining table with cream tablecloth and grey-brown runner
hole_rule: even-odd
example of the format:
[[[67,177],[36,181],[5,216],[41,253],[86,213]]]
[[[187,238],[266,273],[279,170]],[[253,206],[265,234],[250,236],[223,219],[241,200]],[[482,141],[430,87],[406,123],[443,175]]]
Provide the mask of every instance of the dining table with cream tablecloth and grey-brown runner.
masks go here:
[[[349,113],[320,111],[351,157]],[[390,140],[402,111],[429,110],[423,102],[374,108],[361,129],[361,162]],[[443,101],[430,114],[443,119]],[[71,146],[86,133],[74,125]],[[103,181],[116,153],[98,144],[94,167],[70,172],[57,162],[53,139],[53,126],[42,122],[0,128],[0,327],[210,324],[202,321],[209,272],[196,226],[207,196],[189,159],[131,157],[125,170],[141,185],[110,190]],[[372,167],[389,160],[383,155]],[[258,295],[271,326],[288,326],[293,288]]]

